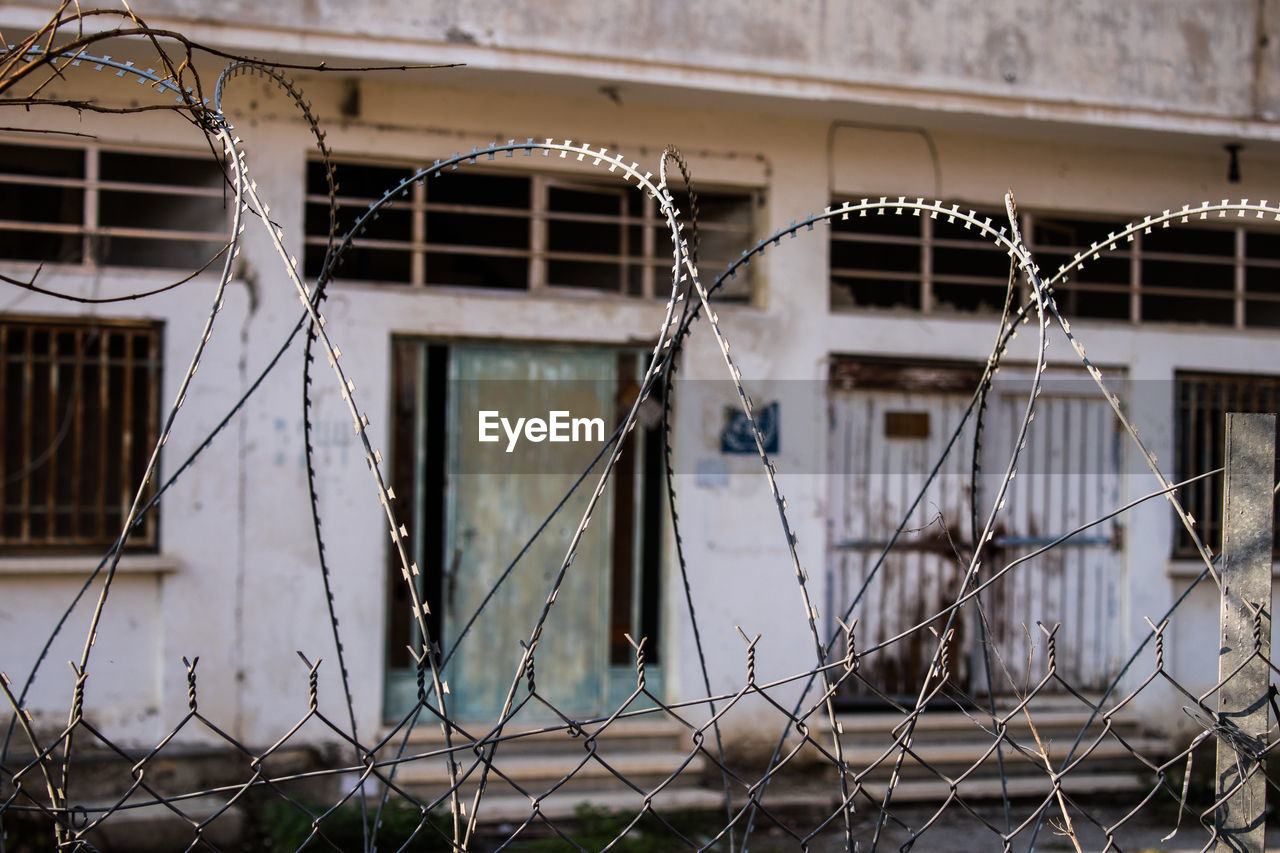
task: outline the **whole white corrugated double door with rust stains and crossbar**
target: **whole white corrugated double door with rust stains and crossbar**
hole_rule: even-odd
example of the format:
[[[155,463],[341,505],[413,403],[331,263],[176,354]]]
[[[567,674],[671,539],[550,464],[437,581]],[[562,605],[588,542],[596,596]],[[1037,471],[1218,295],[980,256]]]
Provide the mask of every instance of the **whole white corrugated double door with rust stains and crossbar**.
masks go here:
[[[855,646],[867,652],[860,678],[845,686],[846,702],[914,702],[924,683],[938,639],[928,629],[910,629],[955,602],[972,555],[972,421],[924,497],[910,507],[963,419],[979,375],[974,368],[946,364],[832,366],[833,603],[838,613],[851,608]],[[1007,462],[1029,380],[1029,374],[1006,368],[992,391],[982,443],[980,519]],[[979,581],[1119,505],[1119,434],[1092,382],[1074,374],[1047,377],[1032,425]],[[1119,548],[1119,528],[1106,523],[1011,569],[982,596],[986,643],[977,607],[963,608],[952,620],[946,660],[952,695],[984,693],[988,667],[997,694],[1020,692],[1030,676],[1042,675],[1046,642],[1037,622],[1062,624],[1057,663],[1064,679],[1080,689],[1105,684],[1120,648]],[[936,620],[932,628],[942,630],[943,624]]]

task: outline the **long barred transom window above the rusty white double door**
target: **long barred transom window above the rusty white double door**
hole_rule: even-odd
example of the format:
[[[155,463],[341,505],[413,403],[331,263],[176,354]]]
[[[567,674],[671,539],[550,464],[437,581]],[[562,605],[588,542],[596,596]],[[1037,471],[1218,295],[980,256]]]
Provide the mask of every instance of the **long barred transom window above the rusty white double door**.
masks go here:
[[[993,223],[1004,215],[991,215]],[[1107,240],[1121,220],[1023,211],[1043,274]],[[942,216],[870,213],[832,222],[833,307],[998,311],[1009,259]],[[1019,298],[1030,291],[1018,282]],[[1244,227],[1152,228],[1105,250],[1055,284],[1069,318],[1280,328],[1280,232]]]

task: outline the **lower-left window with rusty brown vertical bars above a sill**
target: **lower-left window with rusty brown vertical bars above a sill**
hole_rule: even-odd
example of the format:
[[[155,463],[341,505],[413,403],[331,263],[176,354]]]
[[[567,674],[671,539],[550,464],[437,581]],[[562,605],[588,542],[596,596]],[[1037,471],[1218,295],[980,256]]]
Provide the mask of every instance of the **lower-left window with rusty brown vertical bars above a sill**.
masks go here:
[[[116,540],[156,443],[160,345],[156,323],[0,318],[0,551]],[[151,511],[128,546],[157,530]]]

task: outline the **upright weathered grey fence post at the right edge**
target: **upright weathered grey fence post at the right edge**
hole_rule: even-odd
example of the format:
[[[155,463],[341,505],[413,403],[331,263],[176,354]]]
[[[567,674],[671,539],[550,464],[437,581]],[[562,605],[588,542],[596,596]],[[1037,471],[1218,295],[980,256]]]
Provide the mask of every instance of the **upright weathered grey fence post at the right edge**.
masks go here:
[[[1219,853],[1262,853],[1266,849],[1267,785],[1258,754],[1266,745],[1271,683],[1275,438],[1275,415],[1226,415],[1217,669],[1221,730],[1213,775],[1215,800],[1221,803],[1213,818]]]

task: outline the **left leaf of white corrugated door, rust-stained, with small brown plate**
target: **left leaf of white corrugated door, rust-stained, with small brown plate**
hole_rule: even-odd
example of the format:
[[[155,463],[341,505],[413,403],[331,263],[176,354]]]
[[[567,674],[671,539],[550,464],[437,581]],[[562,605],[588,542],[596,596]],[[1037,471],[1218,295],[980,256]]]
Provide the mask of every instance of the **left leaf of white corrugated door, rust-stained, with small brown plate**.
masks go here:
[[[837,361],[832,365],[829,525],[837,610],[858,620],[870,649],[842,698],[914,702],[937,639],[900,634],[955,601],[968,562],[973,442],[957,442],[915,508],[911,503],[964,416],[980,373],[954,364]],[[970,432],[972,435],[972,432]],[[899,525],[904,525],[886,556]],[[956,620],[951,679],[969,688],[972,620]],[[942,622],[936,622],[941,630]],[[899,639],[895,639],[899,638]],[[963,653],[956,654],[960,649]],[[877,695],[881,694],[881,695]]]

